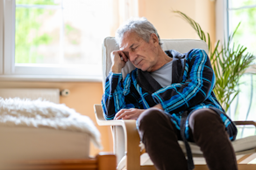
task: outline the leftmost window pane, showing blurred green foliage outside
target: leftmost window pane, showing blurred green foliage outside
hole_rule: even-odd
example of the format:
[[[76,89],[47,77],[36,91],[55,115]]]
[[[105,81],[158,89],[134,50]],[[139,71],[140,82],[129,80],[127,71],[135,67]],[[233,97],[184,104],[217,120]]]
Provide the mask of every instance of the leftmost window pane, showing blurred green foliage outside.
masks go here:
[[[60,18],[60,10],[17,8],[15,63],[57,64]]]

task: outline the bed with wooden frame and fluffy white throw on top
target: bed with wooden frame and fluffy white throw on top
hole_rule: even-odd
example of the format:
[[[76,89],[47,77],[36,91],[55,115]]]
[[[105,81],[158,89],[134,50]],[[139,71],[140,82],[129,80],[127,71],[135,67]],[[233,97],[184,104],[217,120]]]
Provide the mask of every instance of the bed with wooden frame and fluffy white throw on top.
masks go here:
[[[99,169],[105,159],[116,167],[113,154],[89,157],[90,141],[102,147],[100,133],[89,117],[63,104],[0,99],[0,136],[1,169]]]

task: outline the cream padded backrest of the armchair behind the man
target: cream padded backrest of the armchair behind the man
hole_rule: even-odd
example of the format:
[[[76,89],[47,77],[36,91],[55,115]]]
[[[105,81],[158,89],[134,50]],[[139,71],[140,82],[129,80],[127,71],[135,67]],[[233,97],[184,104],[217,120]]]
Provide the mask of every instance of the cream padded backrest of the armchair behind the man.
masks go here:
[[[185,53],[190,51],[191,49],[198,48],[203,49],[204,51],[209,53],[208,45],[199,39],[161,39],[163,43],[163,50],[175,50],[181,53]],[[114,37],[106,37],[103,41],[103,85],[104,80],[108,76],[110,72],[110,68],[112,65],[110,53],[111,51],[118,50],[119,47],[116,44]],[[123,78],[125,78],[126,74],[134,70],[135,67],[132,65],[130,61],[126,63],[124,68],[122,69]]]

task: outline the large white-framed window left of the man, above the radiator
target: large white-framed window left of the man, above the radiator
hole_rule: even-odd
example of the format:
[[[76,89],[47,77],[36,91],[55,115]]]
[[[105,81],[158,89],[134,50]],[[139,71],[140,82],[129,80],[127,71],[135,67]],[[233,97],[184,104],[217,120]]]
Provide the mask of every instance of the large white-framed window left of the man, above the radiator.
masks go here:
[[[110,36],[110,0],[0,3],[1,78],[102,80],[102,43]]]

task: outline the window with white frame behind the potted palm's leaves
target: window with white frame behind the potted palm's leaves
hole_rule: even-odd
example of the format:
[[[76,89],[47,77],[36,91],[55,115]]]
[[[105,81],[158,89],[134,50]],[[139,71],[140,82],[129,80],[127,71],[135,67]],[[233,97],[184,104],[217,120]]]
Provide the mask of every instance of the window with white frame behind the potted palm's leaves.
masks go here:
[[[217,39],[227,39],[235,31],[233,42],[247,47],[247,51],[256,55],[256,1],[222,0],[217,1]],[[232,102],[228,114],[233,120],[256,120],[256,61],[240,78],[237,98]],[[256,134],[253,126],[238,129],[238,138]],[[254,163],[256,160],[253,160]]]

